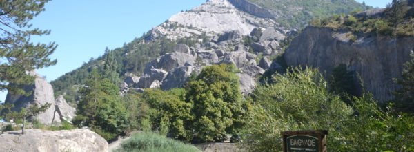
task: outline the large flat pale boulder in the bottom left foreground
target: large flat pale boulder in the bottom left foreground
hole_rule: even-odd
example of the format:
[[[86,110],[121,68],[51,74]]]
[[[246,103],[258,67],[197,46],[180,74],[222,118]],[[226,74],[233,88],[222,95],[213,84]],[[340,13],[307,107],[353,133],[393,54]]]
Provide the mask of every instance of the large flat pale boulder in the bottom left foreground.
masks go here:
[[[0,135],[0,151],[3,152],[59,152],[59,151],[108,151],[108,142],[88,129],[65,131],[41,131],[27,129],[10,131]]]

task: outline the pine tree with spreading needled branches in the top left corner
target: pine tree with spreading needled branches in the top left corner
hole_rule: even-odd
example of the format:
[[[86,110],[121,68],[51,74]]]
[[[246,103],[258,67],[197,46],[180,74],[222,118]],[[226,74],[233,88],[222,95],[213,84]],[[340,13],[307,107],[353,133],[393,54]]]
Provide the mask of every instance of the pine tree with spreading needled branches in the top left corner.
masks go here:
[[[54,43],[33,44],[33,35],[48,35],[50,30],[31,28],[33,17],[44,10],[49,0],[1,0],[0,3],[0,90],[27,94],[17,86],[32,84],[34,77],[26,71],[56,64],[49,55],[56,48]],[[17,84],[17,85],[9,85]]]

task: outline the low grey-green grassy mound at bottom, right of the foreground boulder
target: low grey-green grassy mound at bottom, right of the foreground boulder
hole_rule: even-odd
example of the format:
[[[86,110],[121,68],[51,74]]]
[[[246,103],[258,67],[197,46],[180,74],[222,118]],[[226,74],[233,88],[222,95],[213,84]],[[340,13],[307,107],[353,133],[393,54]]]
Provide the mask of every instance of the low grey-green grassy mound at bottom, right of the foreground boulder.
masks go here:
[[[117,151],[200,151],[191,144],[172,140],[163,135],[152,132],[135,133],[129,140],[122,142],[121,149]]]

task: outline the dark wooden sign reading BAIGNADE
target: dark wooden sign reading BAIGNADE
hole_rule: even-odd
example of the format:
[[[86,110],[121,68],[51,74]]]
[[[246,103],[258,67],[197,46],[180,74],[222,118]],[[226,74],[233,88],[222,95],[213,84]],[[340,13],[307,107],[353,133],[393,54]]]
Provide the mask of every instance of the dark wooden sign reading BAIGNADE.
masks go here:
[[[284,152],[326,152],[328,131],[282,131]]]

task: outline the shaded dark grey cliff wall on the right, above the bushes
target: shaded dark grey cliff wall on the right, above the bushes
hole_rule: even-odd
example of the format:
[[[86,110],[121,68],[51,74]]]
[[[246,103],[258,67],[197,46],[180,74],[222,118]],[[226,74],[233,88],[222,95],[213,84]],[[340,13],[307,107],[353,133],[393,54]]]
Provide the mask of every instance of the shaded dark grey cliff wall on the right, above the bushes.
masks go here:
[[[359,37],[355,42],[342,41],[331,28],[308,26],[296,37],[284,54],[288,66],[311,66],[328,75],[345,64],[362,76],[366,91],[375,99],[393,99],[402,64],[410,59],[414,37]]]

